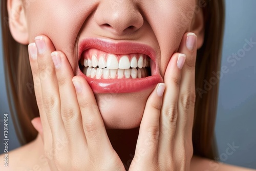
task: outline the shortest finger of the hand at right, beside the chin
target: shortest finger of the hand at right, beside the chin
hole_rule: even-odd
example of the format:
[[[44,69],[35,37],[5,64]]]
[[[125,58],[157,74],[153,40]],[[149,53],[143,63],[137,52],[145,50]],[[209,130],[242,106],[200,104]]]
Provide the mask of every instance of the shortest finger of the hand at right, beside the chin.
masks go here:
[[[151,161],[158,151],[159,117],[162,107],[165,84],[159,83],[148,97],[144,114],[140,124],[140,131],[136,145],[135,157],[138,160]],[[143,156],[141,156],[143,153]]]

